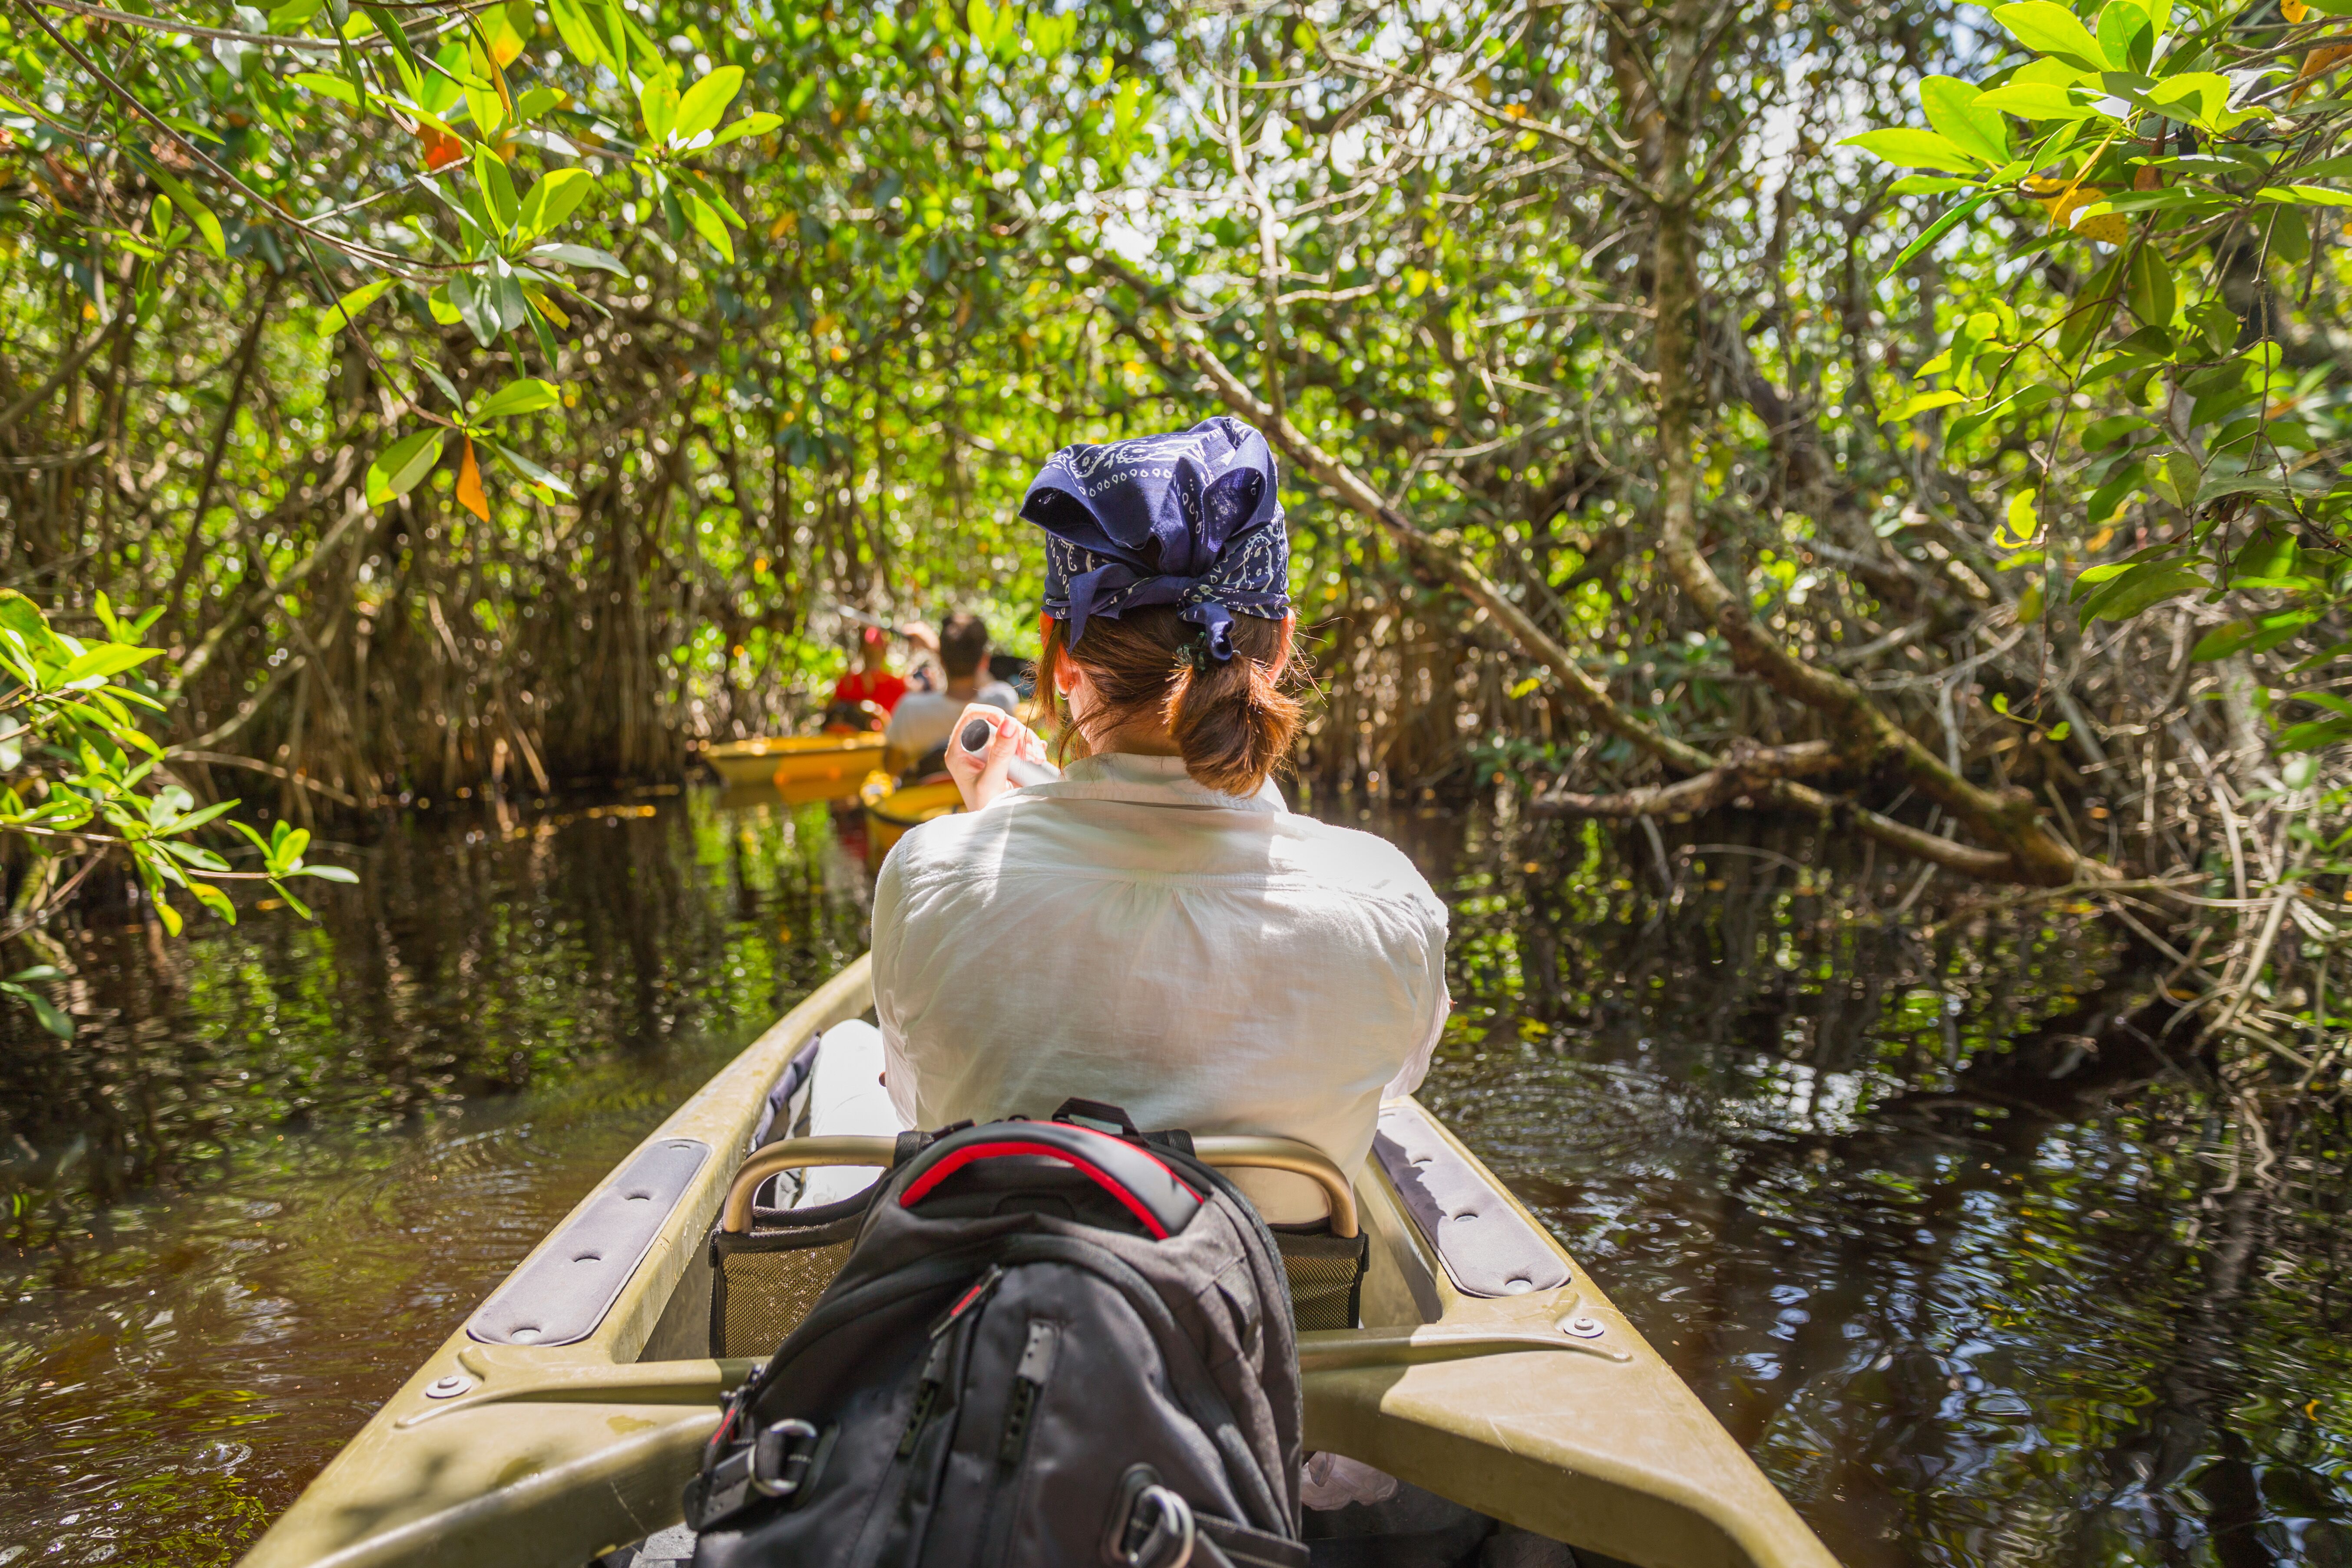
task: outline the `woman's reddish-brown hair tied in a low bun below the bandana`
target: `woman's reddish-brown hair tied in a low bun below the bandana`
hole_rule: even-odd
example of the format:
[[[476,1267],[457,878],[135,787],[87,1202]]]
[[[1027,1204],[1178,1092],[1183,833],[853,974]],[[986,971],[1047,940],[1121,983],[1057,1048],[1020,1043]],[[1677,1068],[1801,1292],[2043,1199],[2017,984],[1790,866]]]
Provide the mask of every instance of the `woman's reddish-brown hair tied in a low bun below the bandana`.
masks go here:
[[[1120,618],[1094,616],[1080,644],[1068,642],[1063,621],[1047,621],[1037,696],[1063,722],[1058,750],[1075,741],[1094,752],[1122,729],[1167,724],[1195,783],[1221,795],[1256,795],[1289,759],[1298,733],[1294,689],[1305,684],[1305,668],[1287,621],[1235,616],[1230,635],[1232,658],[1207,658],[1209,668],[1195,672],[1190,654],[1202,632],[1178,621],[1169,604]],[[1084,724],[1070,717],[1054,686],[1061,654],[1087,672],[1098,698]]]

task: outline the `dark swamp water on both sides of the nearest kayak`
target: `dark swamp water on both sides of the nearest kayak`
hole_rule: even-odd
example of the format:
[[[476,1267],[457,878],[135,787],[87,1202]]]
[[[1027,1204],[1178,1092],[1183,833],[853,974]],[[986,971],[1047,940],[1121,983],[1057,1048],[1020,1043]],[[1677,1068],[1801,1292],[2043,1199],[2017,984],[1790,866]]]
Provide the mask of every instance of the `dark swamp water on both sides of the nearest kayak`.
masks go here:
[[[2352,1563],[2343,1128],[2241,1150],[2084,910],[1494,816],[1423,1098],[1851,1568]],[[1708,835],[1700,830],[1698,839]],[[320,924],[73,938],[0,1018],[0,1566],[223,1563],[863,945],[823,806],[433,816]]]

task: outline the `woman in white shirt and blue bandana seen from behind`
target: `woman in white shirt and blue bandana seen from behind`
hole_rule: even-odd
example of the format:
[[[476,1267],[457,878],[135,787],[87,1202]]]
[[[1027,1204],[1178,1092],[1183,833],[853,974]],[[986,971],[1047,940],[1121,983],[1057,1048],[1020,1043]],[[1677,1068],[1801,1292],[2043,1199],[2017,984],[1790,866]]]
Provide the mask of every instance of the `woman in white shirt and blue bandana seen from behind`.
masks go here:
[[[1065,447],[1021,515],[1047,534],[1037,691],[1077,757],[1014,790],[1044,743],[967,710],[995,729],[985,762],[950,745],[969,813],[910,830],[875,886],[880,1041],[835,1030],[821,1067],[847,1084],[880,1053],[901,1126],[1082,1095],[1355,1171],[1444,1027],[1446,912],[1395,846],[1272,783],[1303,677],[1265,440],[1211,418]],[[1268,1220],[1322,1218],[1305,1178],[1237,1175]]]

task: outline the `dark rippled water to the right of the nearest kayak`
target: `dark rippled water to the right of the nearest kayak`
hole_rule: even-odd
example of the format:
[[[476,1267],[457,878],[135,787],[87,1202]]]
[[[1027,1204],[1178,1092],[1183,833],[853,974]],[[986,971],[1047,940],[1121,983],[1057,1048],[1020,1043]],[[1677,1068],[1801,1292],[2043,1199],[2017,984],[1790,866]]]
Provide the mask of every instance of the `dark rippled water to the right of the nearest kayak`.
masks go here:
[[[2089,907],[1675,835],[1399,825],[1454,867],[1423,1098],[1832,1552],[2352,1561],[2343,1121],[2232,1114]]]

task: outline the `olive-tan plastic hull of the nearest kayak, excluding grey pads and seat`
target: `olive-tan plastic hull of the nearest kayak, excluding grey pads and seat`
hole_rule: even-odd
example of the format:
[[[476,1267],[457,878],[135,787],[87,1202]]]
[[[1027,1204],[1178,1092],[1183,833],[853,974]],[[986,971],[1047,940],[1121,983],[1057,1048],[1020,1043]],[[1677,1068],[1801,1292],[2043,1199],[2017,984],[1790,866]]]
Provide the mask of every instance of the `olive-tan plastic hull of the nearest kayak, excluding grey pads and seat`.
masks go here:
[[[699,1143],[713,1157],[593,1333],[572,1345],[485,1345],[456,1328],[254,1544],[247,1568],[581,1568],[677,1523],[680,1488],[717,1425],[715,1401],[753,1366],[703,1354],[706,1237],[783,1065],[816,1030],[870,1004],[861,957],[640,1145],[644,1154]],[[1423,1117],[1397,1107],[1406,1112]],[[1435,1119],[1423,1138],[1442,1138],[1484,1175]],[[574,1215],[609,1204],[640,1154]],[[1484,1180],[1494,1185],[1489,1213],[1534,1225]],[[1642,1568],[1835,1566],[1548,1234],[1566,1284],[1465,1295],[1378,1161],[1367,1161],[1355,1187],[1371,1232],[1367,1326],[1301,1333],[1308,1448]],[[517,1276],[560,1262],[564,1229]]]

